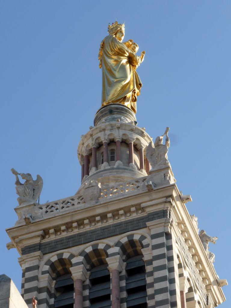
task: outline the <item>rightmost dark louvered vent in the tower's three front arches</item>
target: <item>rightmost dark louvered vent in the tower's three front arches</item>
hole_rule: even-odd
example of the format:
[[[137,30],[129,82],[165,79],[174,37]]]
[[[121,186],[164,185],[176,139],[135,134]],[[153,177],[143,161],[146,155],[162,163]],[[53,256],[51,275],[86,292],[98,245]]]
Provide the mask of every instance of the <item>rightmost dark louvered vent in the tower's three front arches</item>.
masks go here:
[[[127,307],[147,308],[147,291],[145,278],[145,264],[143,256],[128,259],[126,272]]]

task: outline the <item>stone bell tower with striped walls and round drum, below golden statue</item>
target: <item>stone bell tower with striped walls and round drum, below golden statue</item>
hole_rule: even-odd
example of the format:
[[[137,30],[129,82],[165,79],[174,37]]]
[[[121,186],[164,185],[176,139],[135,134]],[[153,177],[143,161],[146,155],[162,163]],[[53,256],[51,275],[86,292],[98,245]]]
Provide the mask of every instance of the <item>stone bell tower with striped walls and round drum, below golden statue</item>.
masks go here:
[[[158,138],[153,148],[132,108],[104,104],[78,146],[75,195],[42,205],[20,199],[8,248],[20,253],[29,307],[33,296],[39,308],[211,308],[225,301],[225,281],[206,246],[216,238],[200,239],[185,205],[191,197],[178,190],[167,151],[160,159]]]

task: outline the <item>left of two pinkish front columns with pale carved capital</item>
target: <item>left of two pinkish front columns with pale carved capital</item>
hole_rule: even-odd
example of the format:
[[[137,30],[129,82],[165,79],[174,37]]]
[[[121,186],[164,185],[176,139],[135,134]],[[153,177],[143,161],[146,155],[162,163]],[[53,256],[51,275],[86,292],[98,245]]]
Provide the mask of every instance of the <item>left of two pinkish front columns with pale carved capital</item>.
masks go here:
[[[75,308],[83,308],[83,282],[87,278],[87,270],[83,264],[70,267],[70,270],[75,287]]]

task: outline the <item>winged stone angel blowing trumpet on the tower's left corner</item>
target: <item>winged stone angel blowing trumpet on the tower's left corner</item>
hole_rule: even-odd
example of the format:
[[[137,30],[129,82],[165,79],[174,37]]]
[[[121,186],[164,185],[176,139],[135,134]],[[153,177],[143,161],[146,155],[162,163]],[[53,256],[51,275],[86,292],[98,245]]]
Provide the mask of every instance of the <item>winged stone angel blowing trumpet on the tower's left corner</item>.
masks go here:
[[[17,198],[19,205],[36,204],[41,190],[43,188],[43,179],[40,175],[37,175],[37,179],[34,181],[30,173],[18,173],[14,168],[10,170],[16,177],[16,193],[19,196]],[[23,184],[20,183],[18,175],[26,180]]]

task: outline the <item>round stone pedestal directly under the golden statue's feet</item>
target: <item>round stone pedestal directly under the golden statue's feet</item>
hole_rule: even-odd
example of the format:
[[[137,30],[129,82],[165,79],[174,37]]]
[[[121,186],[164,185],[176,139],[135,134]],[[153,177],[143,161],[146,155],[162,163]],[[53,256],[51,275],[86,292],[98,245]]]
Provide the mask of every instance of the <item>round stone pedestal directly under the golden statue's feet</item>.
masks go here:
[[[119,120],[118,120],[119,119]],[[95,114],[94,125],[105,122],[136,122],[135,113],[123,104],[108,104],[101,107]]]

